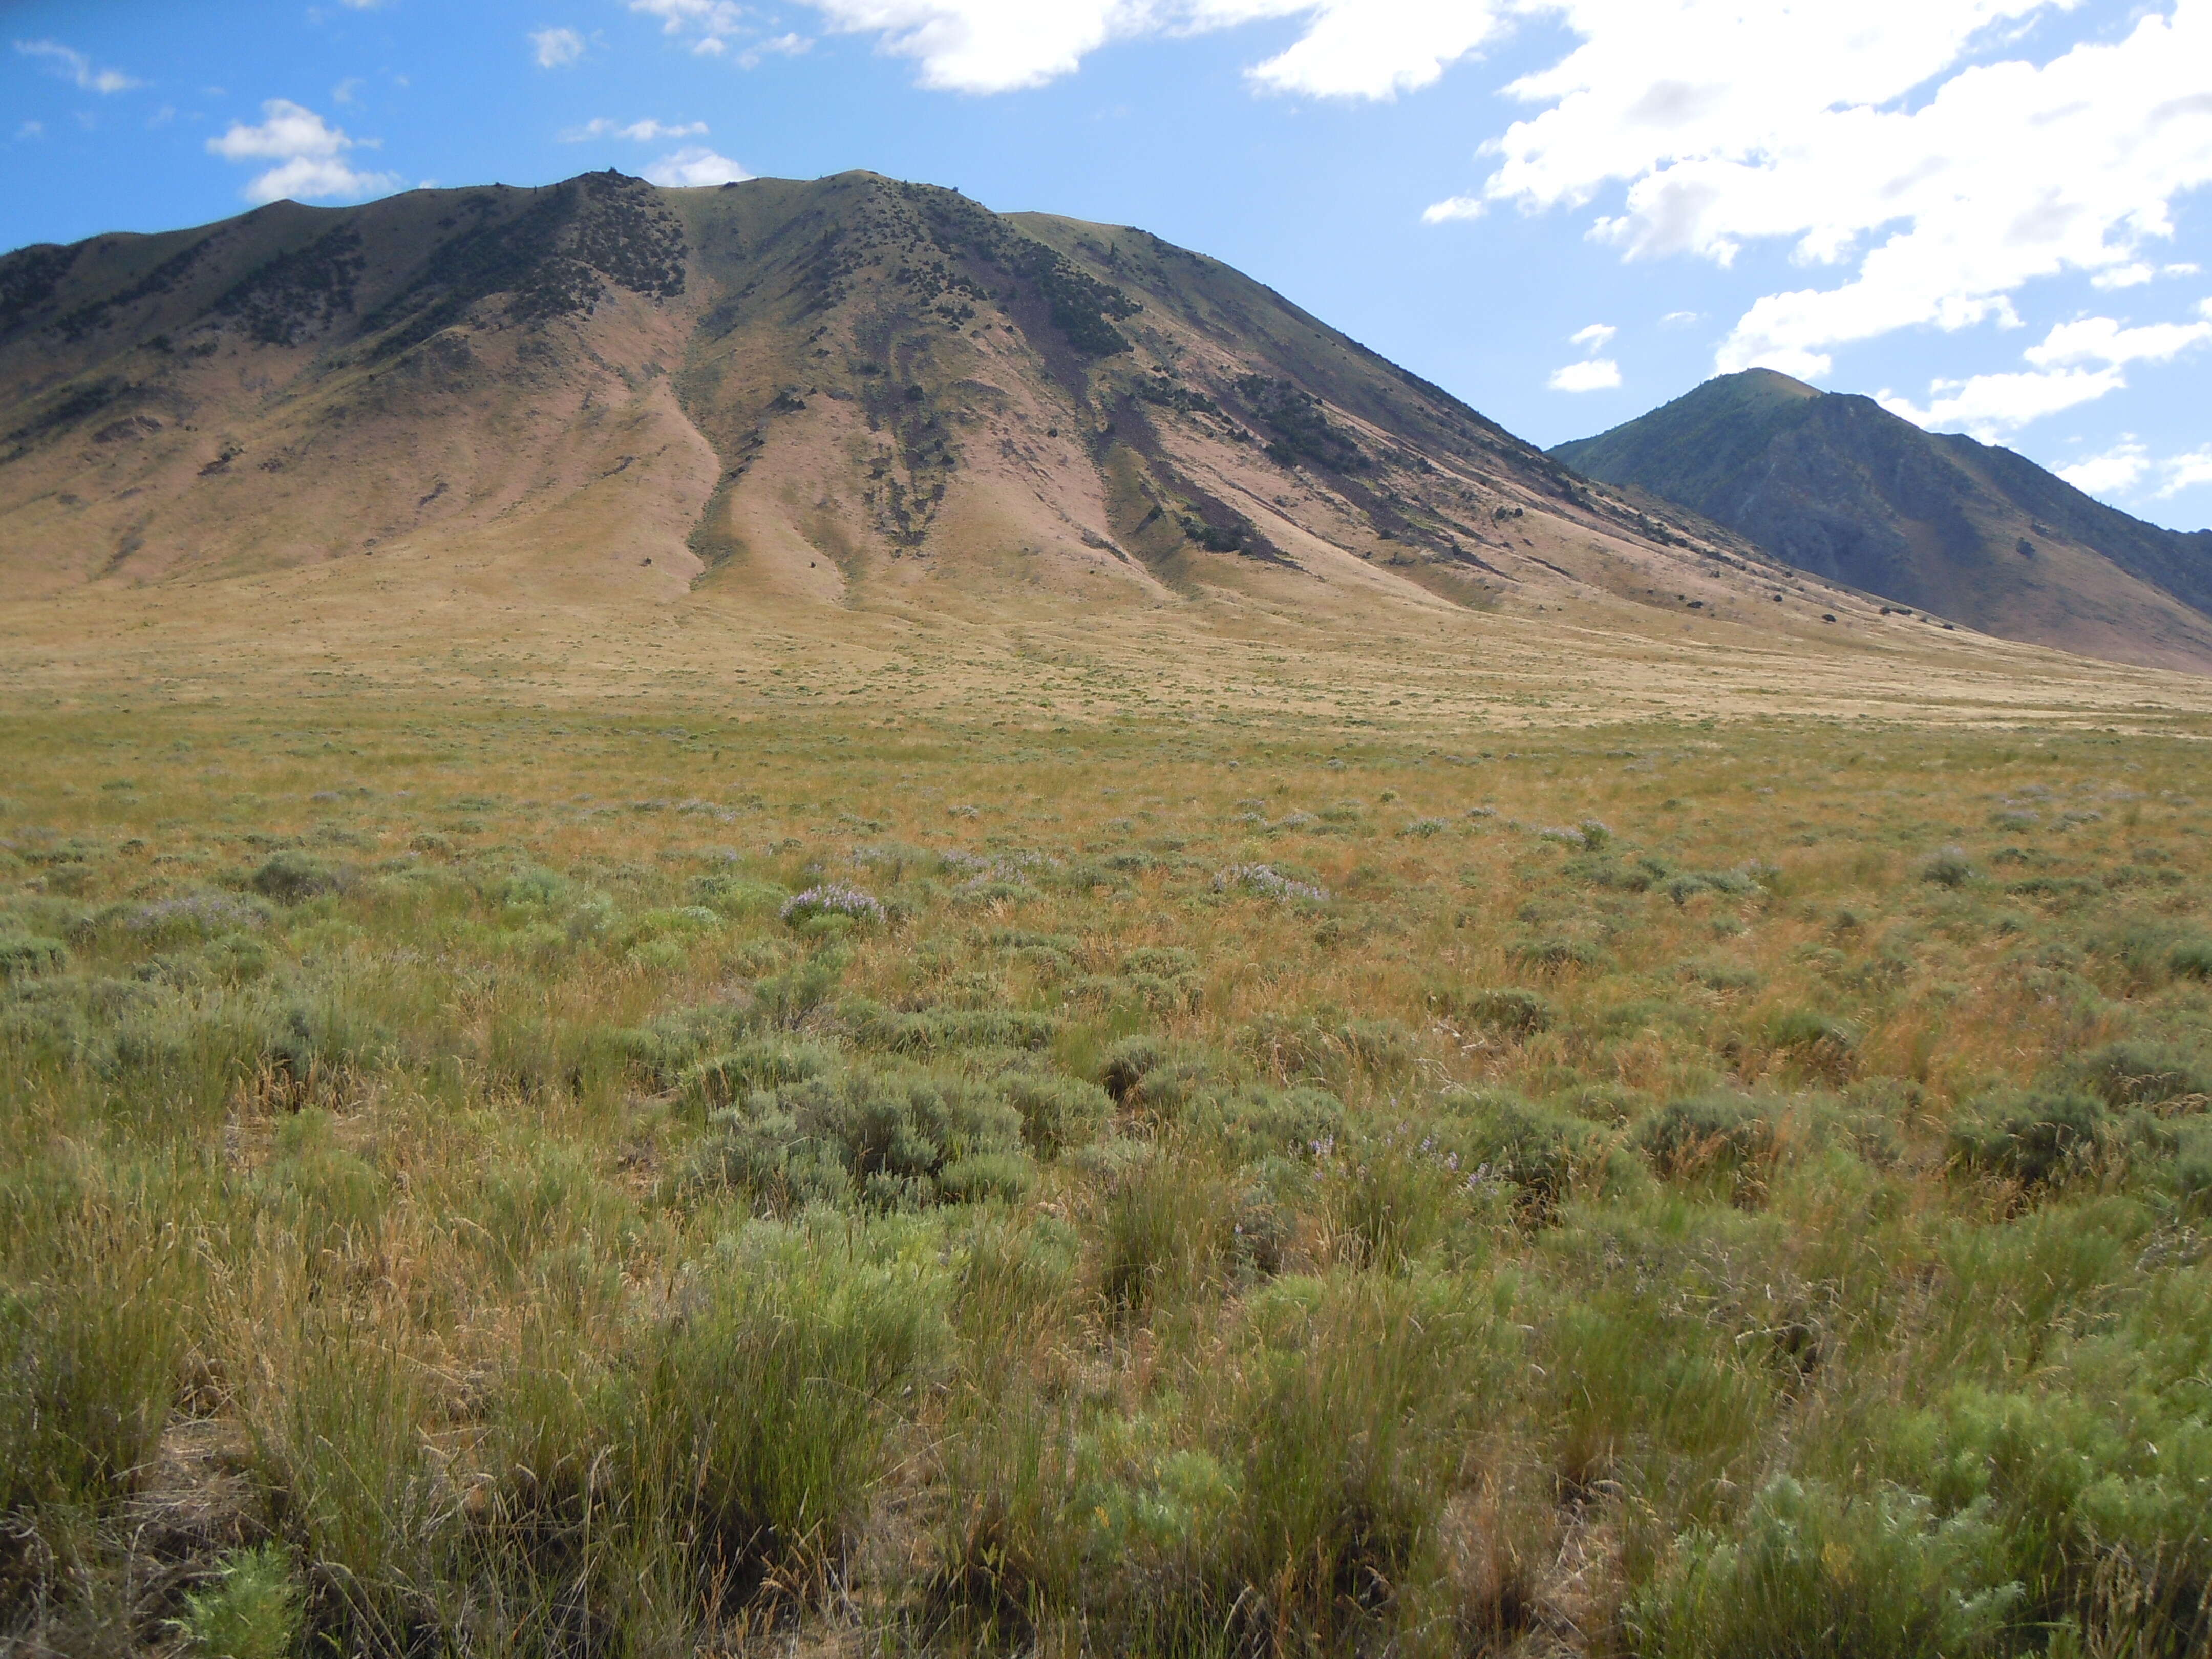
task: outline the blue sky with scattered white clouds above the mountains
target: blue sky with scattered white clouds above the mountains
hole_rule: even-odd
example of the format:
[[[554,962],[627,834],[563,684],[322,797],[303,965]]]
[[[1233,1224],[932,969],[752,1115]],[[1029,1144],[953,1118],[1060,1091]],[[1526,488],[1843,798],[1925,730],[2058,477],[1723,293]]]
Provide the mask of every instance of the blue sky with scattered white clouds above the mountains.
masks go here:
[[[0,0],[0,248],[874,168],[1555,445],[1765,365],[2212,526],[2212,0]]]

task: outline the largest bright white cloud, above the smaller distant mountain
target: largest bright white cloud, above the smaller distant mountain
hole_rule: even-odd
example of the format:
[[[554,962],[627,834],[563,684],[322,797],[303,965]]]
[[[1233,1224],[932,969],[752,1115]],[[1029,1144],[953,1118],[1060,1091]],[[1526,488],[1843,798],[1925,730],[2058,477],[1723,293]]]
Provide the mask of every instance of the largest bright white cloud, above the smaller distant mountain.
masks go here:
[[[2212,181],[2212,0],[2033,64],[1969,62],[2064,0],[1522,0],[1582,44],[1509,88],[1540,104],[1493,146],[1489,201],[1579,208],[1628,257],[1730,263],[1785,239],[1827,288],[1759,299],[1717,354],[1823,374],[1834,347],[2015,323],[2066,270],[2132,279]],[[1787,66],[1787,73],[1776,73]]]

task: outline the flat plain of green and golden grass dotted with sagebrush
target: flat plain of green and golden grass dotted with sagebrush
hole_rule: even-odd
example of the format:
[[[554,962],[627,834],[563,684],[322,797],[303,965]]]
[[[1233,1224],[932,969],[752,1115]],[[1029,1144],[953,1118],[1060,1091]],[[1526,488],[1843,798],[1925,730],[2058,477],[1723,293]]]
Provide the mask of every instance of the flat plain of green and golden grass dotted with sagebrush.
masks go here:
[[[887,675],[15,699],[0,1641],[2205,1652],[2201,710]]]

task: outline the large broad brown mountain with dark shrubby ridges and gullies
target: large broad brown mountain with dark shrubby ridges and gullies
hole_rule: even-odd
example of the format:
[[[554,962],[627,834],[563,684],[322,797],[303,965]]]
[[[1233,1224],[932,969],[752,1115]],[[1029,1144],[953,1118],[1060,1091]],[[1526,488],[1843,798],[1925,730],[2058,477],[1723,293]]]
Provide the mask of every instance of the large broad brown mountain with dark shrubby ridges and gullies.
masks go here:
[[[1214,259],[869,173],[279,201],[0,259],[0,588],[177,615],[307,575],[425,633],[688,597],[1847,604]]]

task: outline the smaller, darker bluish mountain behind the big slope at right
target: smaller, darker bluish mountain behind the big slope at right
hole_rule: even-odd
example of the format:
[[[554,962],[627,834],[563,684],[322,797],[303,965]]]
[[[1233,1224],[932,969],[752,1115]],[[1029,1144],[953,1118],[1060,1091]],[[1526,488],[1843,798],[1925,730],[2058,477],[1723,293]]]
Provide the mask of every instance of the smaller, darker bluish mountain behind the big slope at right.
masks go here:
[[[1871,398],[1745,369],[1551,453],[1913,611],[2212,672],[2212,531],[2128,518],[2011,449],[1922,431]]]

